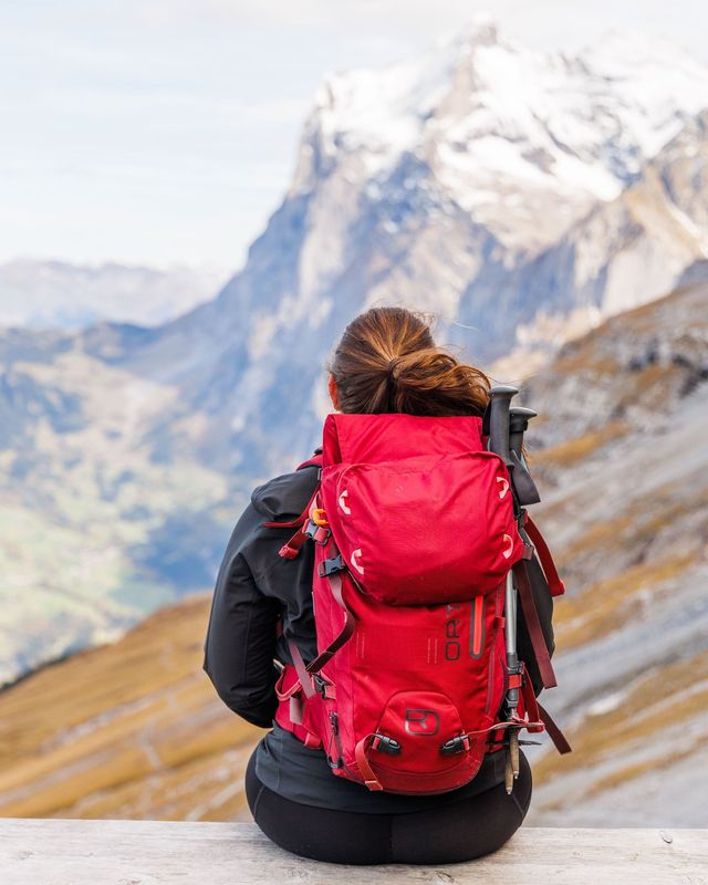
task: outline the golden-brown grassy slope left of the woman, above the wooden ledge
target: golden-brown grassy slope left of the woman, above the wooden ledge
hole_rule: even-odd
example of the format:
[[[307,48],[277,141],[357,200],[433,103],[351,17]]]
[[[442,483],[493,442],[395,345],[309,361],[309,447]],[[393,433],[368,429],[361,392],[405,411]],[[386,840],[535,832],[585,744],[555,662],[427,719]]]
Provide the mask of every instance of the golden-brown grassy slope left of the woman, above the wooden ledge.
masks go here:
[[[0,693],[0,815],[233,820],[258,729],[201,673],[209,601]]]

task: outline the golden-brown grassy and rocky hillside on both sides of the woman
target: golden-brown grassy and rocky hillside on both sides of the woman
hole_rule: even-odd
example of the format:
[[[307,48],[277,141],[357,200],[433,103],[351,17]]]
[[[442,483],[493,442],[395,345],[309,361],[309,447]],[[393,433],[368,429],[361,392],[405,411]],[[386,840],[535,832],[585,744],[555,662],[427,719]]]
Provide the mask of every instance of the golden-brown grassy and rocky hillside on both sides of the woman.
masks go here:
[[[701,826],[708,790],[708,287],[564,346],[519,397],[566,594],[535,825]],[[0,814],[232,820],[257,730],[201,673],[208,597],[0,693]]]

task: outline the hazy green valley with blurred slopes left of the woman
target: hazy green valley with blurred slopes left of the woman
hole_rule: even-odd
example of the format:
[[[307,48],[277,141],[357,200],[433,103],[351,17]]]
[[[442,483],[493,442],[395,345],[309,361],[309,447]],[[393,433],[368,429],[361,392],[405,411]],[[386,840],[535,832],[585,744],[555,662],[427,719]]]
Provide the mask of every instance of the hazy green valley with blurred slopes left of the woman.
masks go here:
[[[198,415],[152,455],[145,428],[178,391],[111,364],[122,332],[101,360],[59,333],[2,339],[0,684],[212,586],[243,503],[185,454]]]

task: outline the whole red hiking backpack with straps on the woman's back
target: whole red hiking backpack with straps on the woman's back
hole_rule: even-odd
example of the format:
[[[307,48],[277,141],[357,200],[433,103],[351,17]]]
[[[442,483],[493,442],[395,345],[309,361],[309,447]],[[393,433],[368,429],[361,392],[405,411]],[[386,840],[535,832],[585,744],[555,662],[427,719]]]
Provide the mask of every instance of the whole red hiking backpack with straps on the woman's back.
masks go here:
[[[563,586],[528,518],[520,532],[507,466],[485,441],[476,417],[337,414],[325,420],[321,456],[305,462],[321,465],[320,479],[280,555],[315,544],[319,654],[305,666],[290,643],[275,719],[369,790],[454,790],[508,733],[544,722],[570,749],[523,665],[508,671],[513,568],[534,667],[555,684],[524,568],[535,560],[531,535],[549,592]],[[514,687],[519,702],[504,717]]]

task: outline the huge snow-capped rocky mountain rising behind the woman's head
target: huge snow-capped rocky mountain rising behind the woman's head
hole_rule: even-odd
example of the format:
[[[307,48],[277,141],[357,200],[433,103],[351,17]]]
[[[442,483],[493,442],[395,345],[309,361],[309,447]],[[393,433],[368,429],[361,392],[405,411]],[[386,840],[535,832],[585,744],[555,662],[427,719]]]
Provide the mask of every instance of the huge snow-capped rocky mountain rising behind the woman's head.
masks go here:
[[[371,304],[433,311],[477,362],[558,346],[704,267],[681,207],[706,201],[707,104],[708,72],[663,44],[569,59],[490,25],[332,76],[243,271],[125,365],[208,413],[210,464],[269,472],[312,444],[329,348]]]

